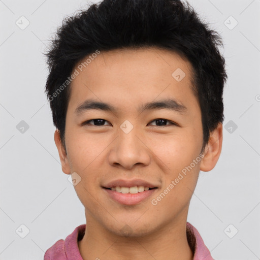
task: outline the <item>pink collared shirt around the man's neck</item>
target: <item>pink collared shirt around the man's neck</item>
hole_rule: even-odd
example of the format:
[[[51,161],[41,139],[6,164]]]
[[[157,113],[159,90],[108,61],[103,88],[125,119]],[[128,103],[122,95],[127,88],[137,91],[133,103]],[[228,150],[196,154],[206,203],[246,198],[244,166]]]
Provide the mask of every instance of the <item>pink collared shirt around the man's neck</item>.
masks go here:
[[[86,224],[77,226],[65,241],[58,240],[44,254],[44,260],[83,260],[79,252],[78,241],[85,233]],[[214,260],[203,242],[198,230],[189,222],[186,223],[187,240],[193,251],[193,260]]]

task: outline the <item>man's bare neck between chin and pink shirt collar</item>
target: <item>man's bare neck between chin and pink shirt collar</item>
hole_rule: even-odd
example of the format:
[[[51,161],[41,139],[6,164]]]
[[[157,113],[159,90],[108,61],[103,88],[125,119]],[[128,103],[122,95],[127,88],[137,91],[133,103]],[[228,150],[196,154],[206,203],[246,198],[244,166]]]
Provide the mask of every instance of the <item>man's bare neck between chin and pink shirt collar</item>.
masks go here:
[[[118,236],[90,215],[86,218],[85,235],[78,242],[83,260],[193,259],[193,252],[186,236],[186,219],[182,219],[181,222],[175,219],[160,229],[146,234]]]

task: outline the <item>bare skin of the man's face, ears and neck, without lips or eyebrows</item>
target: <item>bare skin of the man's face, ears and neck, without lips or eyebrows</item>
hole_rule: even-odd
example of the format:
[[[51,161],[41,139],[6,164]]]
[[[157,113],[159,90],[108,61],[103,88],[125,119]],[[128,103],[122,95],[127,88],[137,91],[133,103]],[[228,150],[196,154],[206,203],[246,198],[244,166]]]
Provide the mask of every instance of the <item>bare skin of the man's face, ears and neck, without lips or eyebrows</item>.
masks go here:
[[[172,77],[177,68],[186,74],[180,82]],[[78,242],[84,260],[193,258],[186,237],[188,207],[200,170],[212,170],[219,158],[221,123],[211,133],[203,159],[157,205],[151,204],[202,149],[201,110],[191,90],[190,72],[190,63],[168,50],[120,49],[101,52],[73,80],[66,117],[67,154],[58,131],[54,139],[62,171],[81,177],[74,187],[85,207],[86,232]],[[186,106],[187,113],[137,110],[141,104],[169,97]],[[89,110],[77,116],[76,108],[89,98],[117,110]],[[162,118],[169,120],[163,126],[154,121]],[[91,119],[106,121],[101,126],[94,121],[81,125]],[[125,120],[134,126],[128,134],[120,128]],[[111,180],[134,178],[157,185],[152,198],[121,205],[101,187]]]

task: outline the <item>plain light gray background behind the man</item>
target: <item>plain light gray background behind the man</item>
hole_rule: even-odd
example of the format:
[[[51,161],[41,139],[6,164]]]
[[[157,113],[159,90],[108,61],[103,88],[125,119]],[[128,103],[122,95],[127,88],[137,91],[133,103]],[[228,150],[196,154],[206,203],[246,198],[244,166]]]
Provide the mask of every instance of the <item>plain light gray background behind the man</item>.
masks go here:
[[[2,260],[43,259],[50,246],[85,223],[84,208],[61,171],[44,94],[47,67],[41,52],[63,17],[86,3],[0,1]],[[211,172],[200,173],[188,221],[214,259],[259,259],[260,1],[189,3],[223,37],[229,79],[224,89],[222,153]],[[16,24],[18,20],[26,25],[21,16],[29,21],[23,30]],[[24,238],[20,236],[26,235],[26,228],[21,224],[29,230]]]

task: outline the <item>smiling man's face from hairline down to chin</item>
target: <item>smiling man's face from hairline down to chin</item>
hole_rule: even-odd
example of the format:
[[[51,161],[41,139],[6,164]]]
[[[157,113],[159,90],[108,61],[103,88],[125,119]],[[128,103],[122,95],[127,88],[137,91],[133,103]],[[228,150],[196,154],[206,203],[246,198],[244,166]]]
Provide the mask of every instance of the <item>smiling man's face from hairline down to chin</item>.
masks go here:
[[[86,218],[131,236],[186,219],[203,164],[190,63],[167,50],[125,49],[101,52],[77,70],[66,117],[67,154],[57,133],[55,142],[63,172],[80,180],[74,187]],[[122,193],[115,185],[123,186]],[[130,192],[152,189],[123,193],[133,186]]]

